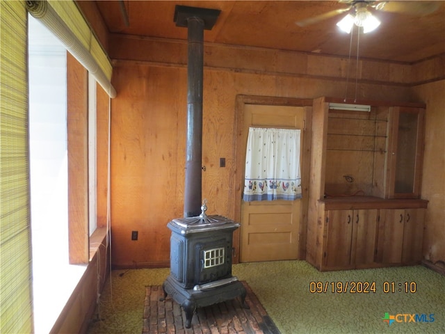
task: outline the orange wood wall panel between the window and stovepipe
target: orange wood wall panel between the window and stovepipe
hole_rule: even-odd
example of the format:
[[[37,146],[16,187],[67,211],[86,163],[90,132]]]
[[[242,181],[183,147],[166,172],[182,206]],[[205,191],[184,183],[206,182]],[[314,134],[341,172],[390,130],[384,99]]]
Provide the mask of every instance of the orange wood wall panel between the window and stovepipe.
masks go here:
[[[147,80],[150,78],[150,80]],[[111,225],[117,267],[165,265],[168,221],[182,216],[186,71],[116,67],[111,114]],[[138,231],[138,240],[131,240]]]

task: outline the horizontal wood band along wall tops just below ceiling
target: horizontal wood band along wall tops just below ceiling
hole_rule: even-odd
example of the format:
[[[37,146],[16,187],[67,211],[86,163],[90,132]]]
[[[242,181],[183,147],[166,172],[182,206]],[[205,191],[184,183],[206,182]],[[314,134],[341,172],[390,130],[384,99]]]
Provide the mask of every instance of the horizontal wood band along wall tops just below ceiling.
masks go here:
[[[114,66],[133,63],[182,67],[187,63],[185,40],[120,33],[111,33],[109,37],[108,54]],[[206,70],[348,81],[348,59],[340,56],[211,42],[205,44],[204,53]],[[415,64],[361,58],[357,79],[359,84],[401,87],[438,81],[445,76],[443,58],[439,55]]]

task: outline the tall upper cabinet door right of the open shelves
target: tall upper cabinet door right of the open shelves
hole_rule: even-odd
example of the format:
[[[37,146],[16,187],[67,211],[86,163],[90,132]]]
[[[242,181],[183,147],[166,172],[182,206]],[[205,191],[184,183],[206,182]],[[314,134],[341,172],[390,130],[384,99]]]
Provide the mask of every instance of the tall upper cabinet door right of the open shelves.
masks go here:
[[[396,107],[389,147],[389,198],[419,198],[424,109]]]

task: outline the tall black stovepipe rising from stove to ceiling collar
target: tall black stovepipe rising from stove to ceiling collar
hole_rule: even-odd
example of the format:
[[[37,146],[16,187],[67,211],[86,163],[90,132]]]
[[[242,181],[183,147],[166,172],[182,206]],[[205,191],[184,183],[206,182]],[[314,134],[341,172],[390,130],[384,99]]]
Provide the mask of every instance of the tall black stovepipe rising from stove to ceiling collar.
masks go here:
[[[220,10],[176,6],[177,26],[188,27],[187,138],[184,217],[199,216],[202,203],[202,81],[204,29],[211,30]]]

